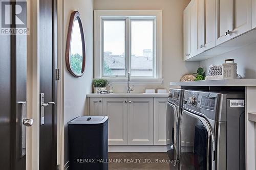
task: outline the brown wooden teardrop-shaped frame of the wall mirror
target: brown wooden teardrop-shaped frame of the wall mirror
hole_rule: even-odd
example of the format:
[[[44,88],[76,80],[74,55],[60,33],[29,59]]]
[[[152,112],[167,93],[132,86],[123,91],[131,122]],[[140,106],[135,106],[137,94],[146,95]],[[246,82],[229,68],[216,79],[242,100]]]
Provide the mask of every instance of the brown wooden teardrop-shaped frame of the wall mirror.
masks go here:
[[[71,46],[71,41],[72,41],[73,26],[74,26],[74,22],[75,22],[76,18],[77,18],[77,21],[79,23],[81,40],[82,40],[82,70],[81,70],[80,75],[75,74],[75,72],[72,71],[72,68],[70,66],[70,46]],[[86,43],[85,43],[85,40],[84,40],[82,20],[81,20],[81,17],[80,17],[80,14],[79,14],[78,11],[73,11],[71,13],[71,16],[70,16],[65,59],[66,59],[66,66],[67,66],[67,68],[68,68],[68,70],[69,70],[69,72],[72,76],[81,77],[84,74],[84,70],[86,68]]]

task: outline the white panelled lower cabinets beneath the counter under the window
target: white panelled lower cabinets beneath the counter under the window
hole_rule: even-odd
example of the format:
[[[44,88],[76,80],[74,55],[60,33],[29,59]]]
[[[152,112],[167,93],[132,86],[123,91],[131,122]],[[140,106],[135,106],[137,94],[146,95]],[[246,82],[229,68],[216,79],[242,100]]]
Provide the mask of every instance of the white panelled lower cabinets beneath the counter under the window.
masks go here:
[[[167,98],[90,98],[90,115],[109,116],[109,145],[165,145]]]

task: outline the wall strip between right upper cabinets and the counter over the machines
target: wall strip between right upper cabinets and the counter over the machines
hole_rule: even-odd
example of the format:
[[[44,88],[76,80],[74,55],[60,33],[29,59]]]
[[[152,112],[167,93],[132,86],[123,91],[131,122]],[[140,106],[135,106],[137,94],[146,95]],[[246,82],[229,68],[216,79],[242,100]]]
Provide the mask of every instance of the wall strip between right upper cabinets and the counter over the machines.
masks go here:
[[[222,65],[225,59],[232,58],[238,64],[239,75],[243,78],[256,79],[256,43],[202,61],[200,62],[200,66],[206,68],[208,71],[211,64]]]

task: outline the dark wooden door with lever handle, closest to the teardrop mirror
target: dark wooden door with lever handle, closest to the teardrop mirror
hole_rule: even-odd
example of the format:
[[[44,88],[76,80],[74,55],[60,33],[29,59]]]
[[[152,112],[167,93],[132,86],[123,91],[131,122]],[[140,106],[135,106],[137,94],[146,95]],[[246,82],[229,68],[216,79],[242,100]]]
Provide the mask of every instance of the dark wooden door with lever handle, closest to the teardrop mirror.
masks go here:
[[[56,0],[40,0],[39,13],[40,93],[44,93],[45,102],[55,102],[44,107],[44,124],[39,130],[39,169],[54,170],[57,169]]]

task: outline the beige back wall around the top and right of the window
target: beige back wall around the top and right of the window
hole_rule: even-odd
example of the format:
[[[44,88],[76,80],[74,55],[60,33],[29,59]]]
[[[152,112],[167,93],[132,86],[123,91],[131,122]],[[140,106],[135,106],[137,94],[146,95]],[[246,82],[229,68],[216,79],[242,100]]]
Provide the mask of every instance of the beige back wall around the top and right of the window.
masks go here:
[[[97,10],[162,10],[162,86],[136,85],[135,92],[145,88],[169,88],[170,81],[179,81],[184,74],[194,72],[199,62],[183,61],[183,10],[190,0],[94,0]],[[125,92],[123,85],[114,92]]]

